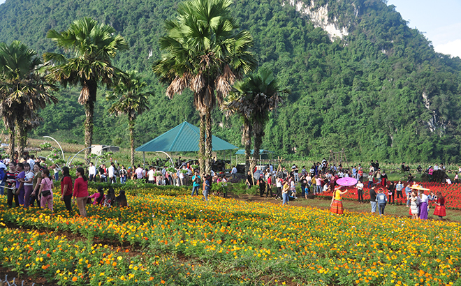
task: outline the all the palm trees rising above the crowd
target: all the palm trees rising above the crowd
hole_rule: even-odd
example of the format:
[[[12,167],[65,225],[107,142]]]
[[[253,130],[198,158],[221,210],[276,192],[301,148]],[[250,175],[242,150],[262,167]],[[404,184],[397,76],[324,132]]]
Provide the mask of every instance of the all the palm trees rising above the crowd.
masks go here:
[[[288,93],[279,89],[268,70],[250,74],[257,61],[250,52],[253,39],[231,16],[231,0],[189,0],[178,5],[175,20],[166,21],[167,36],[160,39],[162,58],[152,66],[159,80],[168,84],[172,98],[184,89],[193,91],[193,104],[200,114],[200,170],[210,173],[212,153],[211,112],[219,106],[228,114],[240,114],[244,121],[242,141],[247,162],[254,135],[254,158],[258,156],[269,114]],[[118,52],[129,49],[126,40],[108,24],[82,18],[66,31],[47,33],[64,54],[45,53],[45,63],[36,52],[20,42],[0,44],[0,113],[9,130],[8,154],[13,156],[15,134],[19,150],[27,130],[40,120],[38,110],[57,103],[56,84],[79,86],[78,103],[85,107],[85,146],[92,146],[94,105],[99,86],[110,90],[109,112],[127,114],[134,165],[136,117],[149,109],[150,92],[136,71],[122,71],[112,65]],[[72,54],[73,57],[66,57]],[[16,132],[17,131],[17,132]],[[87,149],[85,156],[89,155]],[[254,160],[256,162],[256,160]],[[247,168],[249,165],[247,164]]]

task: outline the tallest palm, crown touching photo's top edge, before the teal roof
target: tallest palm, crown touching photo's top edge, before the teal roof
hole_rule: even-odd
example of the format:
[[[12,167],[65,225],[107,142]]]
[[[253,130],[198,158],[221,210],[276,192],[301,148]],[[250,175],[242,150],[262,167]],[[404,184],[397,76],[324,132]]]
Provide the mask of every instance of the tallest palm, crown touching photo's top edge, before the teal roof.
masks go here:
[[[168,35],[160,39],[162,58],[152,66],[160,81],[168,84],[172,98],[184,89],[193,91],[200,114],[200,170],[211,171],[211,112],[223,103],[235,79],[249,73],[256,59],[249,49],[248,31],[236,32],[231,0],[190,0],[178,5],[176,20],[166,21]],[[205,140],[206,137],[206,140]]]

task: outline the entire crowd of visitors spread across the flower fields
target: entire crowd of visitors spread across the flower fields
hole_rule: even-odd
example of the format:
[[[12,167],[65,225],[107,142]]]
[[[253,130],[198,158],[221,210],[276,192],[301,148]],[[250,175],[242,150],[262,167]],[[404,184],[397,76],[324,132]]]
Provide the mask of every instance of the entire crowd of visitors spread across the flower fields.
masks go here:
[[[8,165],[8,167],[7,167]],[[420,166],[418,166],[420,168]],[[402,168],[409,172],[408,168],[402,163]],[[388,181],[386,172],[381,170],[379,162],[371,161],[367,172],[364,176],[364,168],[359,164],[353,166],[351,170],[344,170],[342,165],[329,165],[328,161],[323,158],[321,162],[314,163],[310,168],[302,166],[299,168],[293,165],[291,170],[286,167],[279,167],[277,170],[272,165],[268,165],[265,170],[254,172],[249,171],[245,183],[248,188],[255,184],[258,185],[259,195],[266,198],[274,197],[275,200],[281,200],[281,204],[288,204],[291,200],[298,199],[297,186],[300,186],[300,197],[307,198],[307,195],[320,195],[328,192],[332,193],[330,209],[333,213],[343,213],[342,195],[348,192],[347,188],[337,186],[337,181],[341,178],[354,178],[357,180],[354,186],[357,190],[357,199],[360,204],[365,203],[363,190],[365,188],[364,179],[367,181],[369,188],[369,203],[371,204],[372,213],[376,209],[382,216],[387,204],[395,204],[397,199],[407,200],[409,214],[413,218],[427,219],[429,202],[436,204],[434,216],[439,219],[446,216],[445,198],[441,193],[425,194],[427,189],[415,185],[414,177],[411,173],[405,183],[402,181]],[[50,170],[53,174],[50,174]],[[444,170],[444,165],[434,165],[427,169],[427,174],[431,175],[434,170]],[[257,176],[254,176],[257,173]],[[88,167],[88,178],[85,176],[85,170],[78,167],[76,170],[77,179],[72,180],[68,167],[60,168],[52,164],[50,168],[45,164],[45,158],[35,158],[33,155],[25,154],[20,160],[1,160],[0,157],[0,195],[6,190],[7,204],[13,206],[40,206],[53,210],[53,183],[59,179],[61,172],[61,200],[64,201],[66,209],[72,211],[72,204],[77,204],[81,216],[87,216],[86,204],[92,203],[100,206],[128,206],[124,191],[120,191],[119,196],[115,196],[113,188],[108,188],[105,194],[103,188],[98,188],[98,192],[89,196],[88,181],[100,181],[110,183],[126,183],[128,179],[144,180],[147,183],[156,185],[192,185],[191,195],[199,195],[199,190],[203,194],[203,200],[208,200],[212,191],[213,183],[221,183],[221,188],[216,188],[215,195],[226,197],[227,181],[226,175],[199,174],[189,163],[181,163],[175,172],[168,172],[167,167],[143,168],[128,167],[110,162],[109,167],[105,164],[96,166],[90,162]],[[418,171],[420,172],[420,171]],[[231,170],[231,176],[235,178],[237,166]],[[191,182],[189,182],[191,180]],[[455,182],[458,182],[458,173],[455,176]],[[272,192],[275,187],[275,192]],[[222,191],[222,194],[219,192]]]

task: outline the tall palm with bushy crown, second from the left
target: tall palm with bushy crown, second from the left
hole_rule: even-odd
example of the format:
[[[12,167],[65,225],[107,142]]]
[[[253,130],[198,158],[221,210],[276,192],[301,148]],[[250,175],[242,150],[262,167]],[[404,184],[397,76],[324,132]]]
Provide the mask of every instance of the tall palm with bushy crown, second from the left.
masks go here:
[[[85,106],[85,146],[92,146],[94,103],[99,84],[109,89],[123,77],[124,73],[112,66],[117,52],[128,50],[128,44],[122,36],[114,35],[115,29],[108,24],[98,24],[84,17],[76,20],[66,31],[50,30],[47,38],[64,49],[75,53],[75,57],[66,59],[63,54],[45,53],[45,60],[55,64],[50,68],[50,78],[62,86],[81,86],[78,103]],[[88,158],[90,149],[85,151]]]

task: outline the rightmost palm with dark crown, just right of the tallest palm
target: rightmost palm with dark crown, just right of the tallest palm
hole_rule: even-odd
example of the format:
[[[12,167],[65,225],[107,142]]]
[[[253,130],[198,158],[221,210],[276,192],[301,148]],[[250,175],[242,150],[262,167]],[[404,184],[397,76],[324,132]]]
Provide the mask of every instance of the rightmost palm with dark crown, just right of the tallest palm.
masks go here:
[[[263,143],[265,125],[272,110],[275,110],[290,93],[288,89],[280,89],[272,71],[260,69],[257,74],[250,75],[233,86],[224,108],[240,114],[244,119],[242,141],[245,146],[247,170],[253,170],[258,160],[259,150]],[[250,133],[254,135],[253,160],[249,163],[251,151]]]

